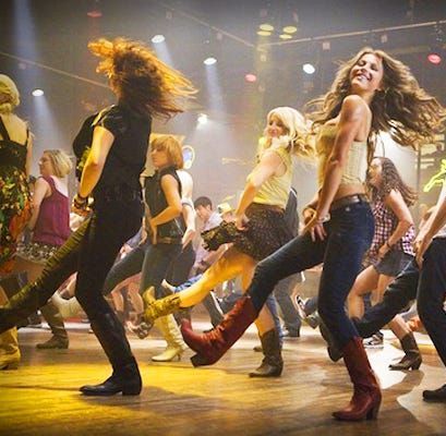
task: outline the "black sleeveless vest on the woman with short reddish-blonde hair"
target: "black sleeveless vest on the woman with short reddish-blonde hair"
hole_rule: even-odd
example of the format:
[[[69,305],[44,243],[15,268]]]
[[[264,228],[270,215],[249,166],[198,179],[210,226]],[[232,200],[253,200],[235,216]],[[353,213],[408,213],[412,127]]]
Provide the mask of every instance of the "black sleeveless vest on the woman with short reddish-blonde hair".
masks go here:
[[[181,181],[173,167],[164,168],[160,171],[156,171],[154,175],[146,178],[144,181],[145,202],[147,204],[152,217],[156,217],[168,206],[166,195],[161,187],[161,178],[167,174],[172,175],[173,179],[177,180],[181,196],[182,192]],[[178,243],[181,242],[181,238],[184,234],[184,230],[185,223],[181,215],[168,222],[165,222],[164,225],[159,225],[157,228],[159,238],[170,238],[173,240],[178,240],[177,241]]]

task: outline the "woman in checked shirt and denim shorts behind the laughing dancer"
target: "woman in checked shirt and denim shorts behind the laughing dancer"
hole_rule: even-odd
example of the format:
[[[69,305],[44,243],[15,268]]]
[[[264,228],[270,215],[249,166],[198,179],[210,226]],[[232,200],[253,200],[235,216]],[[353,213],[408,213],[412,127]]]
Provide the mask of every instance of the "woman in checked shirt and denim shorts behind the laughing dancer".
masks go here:
[[[372,160],[366,184],[371,193],[375,233],[366,256],[370,266],[357,277],[348,296],[350,318],[362,318],[364,294],[372,291],[372,304],[379,303],[387,286],[414,257],[412,243],[415,232],[409,207],[417,201],[415,192],[402,181],[394,162],[386,157]],[[399,315],[389,323],[389,327],[406,353],[400,362],[389,365],[390,370],[418,370],[421,353],[410,328]]]

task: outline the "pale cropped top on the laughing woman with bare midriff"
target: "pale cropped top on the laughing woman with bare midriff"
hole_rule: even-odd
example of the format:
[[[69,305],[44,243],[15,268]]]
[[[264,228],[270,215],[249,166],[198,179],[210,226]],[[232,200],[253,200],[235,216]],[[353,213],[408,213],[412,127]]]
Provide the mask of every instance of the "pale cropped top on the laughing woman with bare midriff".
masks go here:
[[[316,141],[316,149],[320,159],[317,182],[322,186],[328,158],[332,154],[337,133],[336,124],[325,124],[322,126]],[[367,144],[365,141],[353,141],[342,170],[340,184],[362,184],[365,182],[367,172]]]

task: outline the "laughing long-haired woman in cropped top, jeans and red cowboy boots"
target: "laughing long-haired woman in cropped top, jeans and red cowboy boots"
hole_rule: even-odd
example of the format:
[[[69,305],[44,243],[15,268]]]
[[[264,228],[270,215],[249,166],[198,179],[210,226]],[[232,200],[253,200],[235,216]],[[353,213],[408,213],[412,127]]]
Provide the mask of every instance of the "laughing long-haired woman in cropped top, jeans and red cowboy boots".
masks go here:
[[[183,322],[182,334],[197,352],[195,362],[213,364],[257,317],[279,280],[324,263],[318,311],[343,352],[354,388],[350,403],[334,416],[346,421],[375,419],[382,398],[379,386],[345,311],[374,233],[364,186],[367,156],[373,156],[372,140],[379,131],[414,148],[429,143],[442,128],[446,110],[420,88],[407,65],[371,48],[347,61],[330,90],[313,104],[320,190],[303,210],[302,234],[257,265],[246,296],[215,330],[197,335]]]

